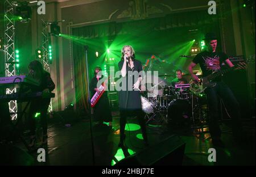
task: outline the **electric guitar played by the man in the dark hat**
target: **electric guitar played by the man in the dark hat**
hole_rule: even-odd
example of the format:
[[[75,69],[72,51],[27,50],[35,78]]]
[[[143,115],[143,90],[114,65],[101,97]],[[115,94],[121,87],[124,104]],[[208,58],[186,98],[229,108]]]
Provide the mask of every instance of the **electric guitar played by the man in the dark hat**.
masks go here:
[[[203,77],[200,79],[200,82],[192,82],[191,83],[191,91],[194,94],[200,94],[205,90],[205,88],[211,88],[216,86],[216,82],[214,82],[214,79],[218,77],[222,77],[225,73],[229,73],[230,71],[233,70],[238,70],[238,69],[246,69],[246,64],[245,62],[239,62],[238,66],[234,66],[229,69],[224,69],[224,70],[218,70],[215,71],[214,73],[207,75],[206,77]]]

